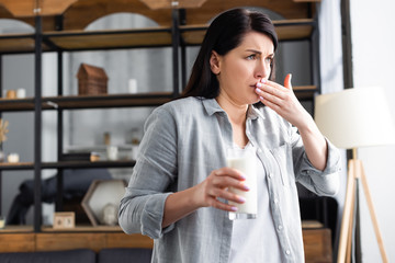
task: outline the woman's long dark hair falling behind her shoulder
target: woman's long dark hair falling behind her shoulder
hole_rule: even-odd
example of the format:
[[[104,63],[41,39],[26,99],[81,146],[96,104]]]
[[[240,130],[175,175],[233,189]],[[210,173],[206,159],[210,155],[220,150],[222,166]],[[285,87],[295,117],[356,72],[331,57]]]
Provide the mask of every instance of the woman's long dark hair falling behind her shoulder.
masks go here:
[[[210,67],[212,52],[215,50],[221,56],[226,55],[240,45],[242,37],[251,31],[268,35],[273,41],[274,50],[276,49],[279,43],[274,25],[266,14],[232,9],[215,18],[204,36],[182,98],[216,98],[219,94],[219,83]],[[274,79],[274,64],[271,65],[269,79]]]

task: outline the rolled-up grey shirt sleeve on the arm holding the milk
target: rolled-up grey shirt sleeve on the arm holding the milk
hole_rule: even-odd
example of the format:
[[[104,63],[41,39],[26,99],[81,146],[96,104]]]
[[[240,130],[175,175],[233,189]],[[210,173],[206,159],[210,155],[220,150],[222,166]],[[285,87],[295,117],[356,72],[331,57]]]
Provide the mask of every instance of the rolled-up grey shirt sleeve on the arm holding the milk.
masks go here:
[[[157,239],[173,228],[162,229],[161,224],[169,186],[177,176],[176,130],[174,118],[161,107],[145,124],[136,164],[120,205],[119,222],[126,233]]]

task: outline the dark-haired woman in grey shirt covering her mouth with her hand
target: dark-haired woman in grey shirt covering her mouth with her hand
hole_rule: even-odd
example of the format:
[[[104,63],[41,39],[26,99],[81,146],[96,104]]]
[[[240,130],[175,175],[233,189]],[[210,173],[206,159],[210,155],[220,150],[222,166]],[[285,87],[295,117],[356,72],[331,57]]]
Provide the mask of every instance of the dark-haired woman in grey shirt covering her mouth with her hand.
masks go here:
[[[304,262],[295,182],[334,195],[339,153],[296,100],[291,76],[284,87],[271,80],[276,46],[264,14],[222,13],[183,99],[147,119],[120,225],[155,239],[153,262]],[[228,147],[257,152],[257,219],[228,219],[228,202],[244,202],[228,187],[248,191],[226,168]]]

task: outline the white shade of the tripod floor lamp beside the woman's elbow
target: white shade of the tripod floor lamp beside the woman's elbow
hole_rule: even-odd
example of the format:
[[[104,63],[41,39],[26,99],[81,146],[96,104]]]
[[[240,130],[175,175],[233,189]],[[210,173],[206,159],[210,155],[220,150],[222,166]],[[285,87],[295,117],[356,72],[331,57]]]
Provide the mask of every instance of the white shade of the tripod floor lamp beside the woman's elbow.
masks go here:
[[[339,148],[395,144],[394,119],[384,90],[347,89],[316,96],[315,122]]]

